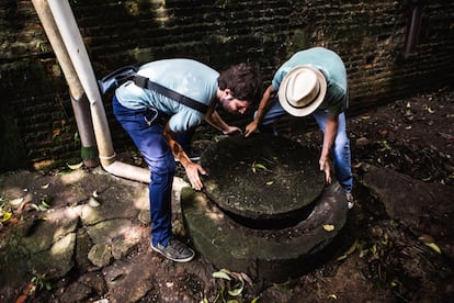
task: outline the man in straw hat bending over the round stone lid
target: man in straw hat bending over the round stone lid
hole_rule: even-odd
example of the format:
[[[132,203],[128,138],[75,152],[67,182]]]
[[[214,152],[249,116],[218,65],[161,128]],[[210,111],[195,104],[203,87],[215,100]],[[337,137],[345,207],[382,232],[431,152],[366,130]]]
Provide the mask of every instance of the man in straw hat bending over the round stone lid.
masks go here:
[[[353,176],[344,114],[348,99],[347,71],[342,59],[324,47],[300,50],[274,74],[245,135],[252,134],[259,124],[272,125],[284,114],[313,115],[324,133],[320,170],[325,171],[330,183],[332,158],[336,177],[345,191],[349,207],[352,207]]]

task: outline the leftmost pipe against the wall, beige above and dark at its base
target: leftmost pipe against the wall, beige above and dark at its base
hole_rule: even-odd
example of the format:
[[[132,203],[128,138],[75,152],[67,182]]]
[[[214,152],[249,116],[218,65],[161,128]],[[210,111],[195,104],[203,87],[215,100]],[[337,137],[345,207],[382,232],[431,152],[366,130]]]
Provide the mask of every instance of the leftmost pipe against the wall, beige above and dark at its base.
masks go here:
[[[60,63],[61,70],[69,87],[72,110],[75,111],[76,123],[81,142],[81,157],[87,167],[97,167],[99,165],[97,142],[94,139],[93,125],[91,123],[90,108],[87,96],[76,71],[69,60],[68,52],[61,42],[60,34],[56,29],[54,18],[50,14],[45,1],[33,0],[36,13],[43,24],[44,31],[50,42],[50,45]]]

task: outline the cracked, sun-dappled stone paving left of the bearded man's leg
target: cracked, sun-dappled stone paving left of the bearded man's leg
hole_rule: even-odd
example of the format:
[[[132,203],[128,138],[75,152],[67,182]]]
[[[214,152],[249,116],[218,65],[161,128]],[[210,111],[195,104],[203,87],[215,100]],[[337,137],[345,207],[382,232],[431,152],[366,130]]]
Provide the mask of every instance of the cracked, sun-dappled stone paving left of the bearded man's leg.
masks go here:
[[[182,179],[175,178],[175,203],[177,190],[183,184]],[[87,273],[80,278],[84,282],[72,284],[72,291],[67,291],[70,301],[83,298],[87,282],[100,292],[111,284],[111,296],[124,295],[115,283],[106,281],[122,276],[111,266],[114,260],[125,259],[140,242],[149,242],[147,184],[97,168],[91,172],[77,169],[44,177],[27,171],[8,173],[0,177],[0,188],[3,201],[21,201],[14,206],[14,214],[21,216],[3,226],[0,238],[1,302],[18,298],[33,277],[57,281],[71,272]],[[49,207],[44,207],[43,202]],[[43,210],[37,211],[36,206]],[[129,270],[143,272],[134,276],[141,277],[139,281],[122,283],[134,284],[134,295],[138,298],[150,287],[147,279],[152,266],[147,263],[154,259],[151,255],[156,256],[147,250],[129,261]],[[99,274],[100,269],[104,277]],[[128,298],[133,298],[130,293]]]

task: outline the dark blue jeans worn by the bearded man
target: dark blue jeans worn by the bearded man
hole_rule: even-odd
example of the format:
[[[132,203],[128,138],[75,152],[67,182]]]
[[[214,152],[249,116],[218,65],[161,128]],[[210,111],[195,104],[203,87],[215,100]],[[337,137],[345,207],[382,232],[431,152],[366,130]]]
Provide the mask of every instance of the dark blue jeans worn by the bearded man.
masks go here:
[[[154,112],[147,109],[130,110],[112,100],[113,112],[129,134],[150,169],[149,199],[151,240],[167,246],[172,234],[172,184],[175,161],[169,144],[162,135],[163,125],[150,122]],[[147,122],[148,121],[148,122]]]

